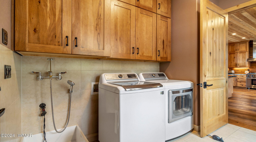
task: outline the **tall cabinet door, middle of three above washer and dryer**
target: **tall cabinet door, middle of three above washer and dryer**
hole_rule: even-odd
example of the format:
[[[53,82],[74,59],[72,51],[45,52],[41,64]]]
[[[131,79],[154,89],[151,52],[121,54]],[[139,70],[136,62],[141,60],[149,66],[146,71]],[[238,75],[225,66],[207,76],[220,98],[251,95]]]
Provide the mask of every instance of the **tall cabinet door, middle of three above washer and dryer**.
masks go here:
[[[156,60],[156,14],[136,7],[136,59]]]

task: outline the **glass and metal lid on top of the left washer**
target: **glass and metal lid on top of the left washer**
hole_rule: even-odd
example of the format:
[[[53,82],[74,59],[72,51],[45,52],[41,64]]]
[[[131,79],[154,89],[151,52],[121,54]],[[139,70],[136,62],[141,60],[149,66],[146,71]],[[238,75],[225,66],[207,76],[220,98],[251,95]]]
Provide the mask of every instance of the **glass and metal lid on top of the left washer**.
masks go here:
[[[141,81],[133,81],[133,82],[111,82],[110,84],[122,86],[125,91],[132,90],[141,90],[141,89],[150,89],[150,88],[159,88],[163,87],[160,83],[154,82],[141,82]]]

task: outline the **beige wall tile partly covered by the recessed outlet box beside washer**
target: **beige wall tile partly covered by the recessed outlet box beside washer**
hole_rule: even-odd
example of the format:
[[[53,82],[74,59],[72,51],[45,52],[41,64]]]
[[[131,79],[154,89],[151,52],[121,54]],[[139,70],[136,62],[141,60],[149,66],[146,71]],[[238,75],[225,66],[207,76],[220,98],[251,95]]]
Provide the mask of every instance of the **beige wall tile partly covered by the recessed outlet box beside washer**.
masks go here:
[[[81,71],[81,89],[91,89],[92,82],[99,82],[102,71]]]

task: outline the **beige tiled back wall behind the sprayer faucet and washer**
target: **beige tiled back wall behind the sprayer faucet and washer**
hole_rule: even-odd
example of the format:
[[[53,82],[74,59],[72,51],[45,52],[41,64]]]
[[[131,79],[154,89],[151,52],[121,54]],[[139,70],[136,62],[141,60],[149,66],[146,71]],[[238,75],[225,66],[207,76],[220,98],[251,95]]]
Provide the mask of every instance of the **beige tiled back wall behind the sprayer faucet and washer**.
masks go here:
[[[36,79],[41,72],[48,75],[48,57],[22,57],[22,133],[40,133],[43,117],[39,105],[46,104],[46,131],[54,130],[51,114],[50,81]],[[91,95],[91,82],[99,82],[102,73],[159,72],[157,62],[54,58],[51,63],[53,75],[62,74],[62,80],[53,79],[53,110],[55,125],[63,128],[68,111],[69,93],[67,80],[75,83],[71,99],[69,126],[79,124],[85,135],[98,132],[98,95]]]

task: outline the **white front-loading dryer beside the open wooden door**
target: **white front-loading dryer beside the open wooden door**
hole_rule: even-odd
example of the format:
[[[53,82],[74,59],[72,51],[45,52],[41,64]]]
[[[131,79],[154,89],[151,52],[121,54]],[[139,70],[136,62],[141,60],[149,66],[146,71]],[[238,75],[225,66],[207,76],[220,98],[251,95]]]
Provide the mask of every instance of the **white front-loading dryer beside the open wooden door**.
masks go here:
[[[185,135],[194,128],[193,82],[169,80],[164,73],[140,73],[141,81],[161,83],[165,91],[165,140]]]

